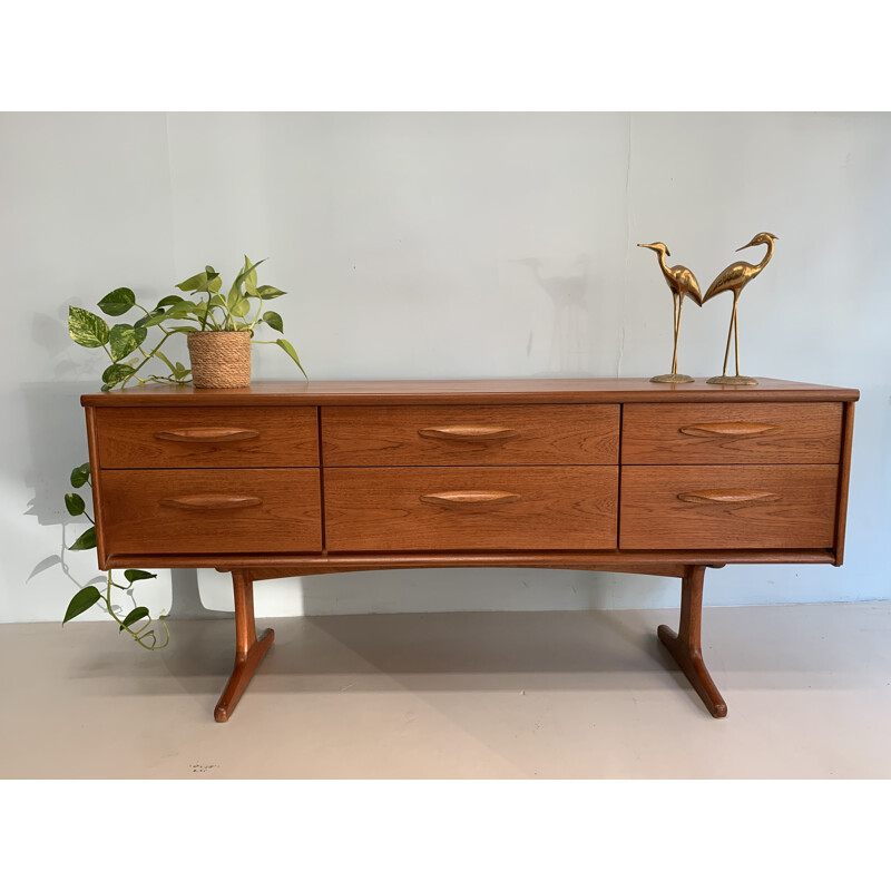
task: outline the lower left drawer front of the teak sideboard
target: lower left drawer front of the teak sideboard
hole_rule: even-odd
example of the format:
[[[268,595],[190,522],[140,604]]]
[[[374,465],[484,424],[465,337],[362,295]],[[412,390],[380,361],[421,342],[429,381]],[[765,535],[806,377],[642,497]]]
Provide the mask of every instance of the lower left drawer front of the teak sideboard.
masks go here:
[[[108,554],[320,551],[317,469],[105,470]]]

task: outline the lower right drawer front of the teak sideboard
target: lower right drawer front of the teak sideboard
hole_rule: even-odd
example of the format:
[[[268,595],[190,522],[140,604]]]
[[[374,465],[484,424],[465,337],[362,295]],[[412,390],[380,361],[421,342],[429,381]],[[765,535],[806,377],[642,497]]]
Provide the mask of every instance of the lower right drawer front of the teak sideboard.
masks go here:
[[[624,467],[619,547],[831,548],[836,464]]]

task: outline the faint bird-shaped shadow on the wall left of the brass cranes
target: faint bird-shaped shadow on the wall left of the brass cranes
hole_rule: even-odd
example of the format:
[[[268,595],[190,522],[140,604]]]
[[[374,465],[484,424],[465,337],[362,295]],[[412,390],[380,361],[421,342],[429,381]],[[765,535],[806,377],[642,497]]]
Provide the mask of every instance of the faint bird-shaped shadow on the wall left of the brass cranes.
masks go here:
[[[584,374],[590,371],[589,311],[590,257],[579,254],[572,261],[538,257],[515,260],[526,266],[538,287],[551,302],[551,329],[546,373]],[[531,344],[530,344],[531,346]]]

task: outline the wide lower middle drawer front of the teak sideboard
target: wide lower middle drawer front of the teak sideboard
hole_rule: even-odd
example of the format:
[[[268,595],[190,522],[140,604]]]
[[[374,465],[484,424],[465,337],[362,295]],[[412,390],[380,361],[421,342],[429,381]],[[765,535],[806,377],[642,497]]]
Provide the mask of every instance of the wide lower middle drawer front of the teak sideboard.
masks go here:
[[[616,547],[618,468],[325,470],[330,551]]]

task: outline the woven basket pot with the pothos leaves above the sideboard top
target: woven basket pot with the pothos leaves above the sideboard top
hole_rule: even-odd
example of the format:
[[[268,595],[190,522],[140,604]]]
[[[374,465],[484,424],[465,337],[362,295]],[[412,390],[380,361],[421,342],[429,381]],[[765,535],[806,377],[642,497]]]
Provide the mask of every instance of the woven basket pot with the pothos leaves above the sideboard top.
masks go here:
[[[199,388],[246,386],[251,382],[251,344],[271,343],[282,347],[306,376],[296,351],[283,337],[260,341],[254,339],[256,326],[266,324],[280,334],[284,323],[278,313],[264,305],[285,292],[272,285],[257,284],[257,266],[244,258],[244,266],[228,292],[223,294],[223,280],[213,266],[186,278],[176,287],[190,298],[172,294],[148,310],[136,301],[129,287],[118,287],[99,301],[99,309],[109,316],[121,316],[139,310],[143,316],[133,324],[119,323],[111,327],[104,319],[78,306],[68,309],[68,331],[71,339],[90,349],[101,347],[111,360],[102,372],[102,390],[160,381],[192,383]],[[199,295],[202,295],[199,297]],[[154,347],[145,349],[149,329],[157,327],[160,339]],[[187,336],[189,369],[182,362],[172,362],[161,351],[168,337],[177,333]],[[144,366],[151,359],[163,362],[168,374],[148,374]]]

